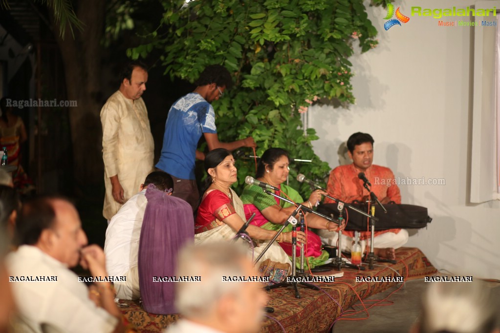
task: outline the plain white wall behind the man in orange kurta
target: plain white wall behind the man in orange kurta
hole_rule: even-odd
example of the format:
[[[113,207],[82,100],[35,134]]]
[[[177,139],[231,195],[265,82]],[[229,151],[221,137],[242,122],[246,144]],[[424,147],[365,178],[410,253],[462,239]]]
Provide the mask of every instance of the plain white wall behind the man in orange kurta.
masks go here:
[[[500,202],[470,204],[468,195],[473,28],[410,16],[411,6],[472,4],[398,0],[394,5],[410,20],[388,31],[385,9],[368,7],[379,45],[350,59],[356,104],[313,106],[307,117],[320,137],[314,151],[332,168],[338,165],[338,145],[361,131],[375,140],[374,163],[390,167],[396,177],[445,178],[444,186],[400,186],[402,202],[427,207],[433,219],[407,246],[421,249],[437,269],[500,279]]]

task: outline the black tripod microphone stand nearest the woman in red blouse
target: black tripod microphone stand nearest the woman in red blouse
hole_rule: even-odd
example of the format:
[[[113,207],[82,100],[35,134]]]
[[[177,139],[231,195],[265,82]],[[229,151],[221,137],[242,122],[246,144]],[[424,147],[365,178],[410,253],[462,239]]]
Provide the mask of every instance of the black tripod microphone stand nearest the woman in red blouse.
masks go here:
[[[286,228],[288,226],[288,224],[291,224],[292,225],[292,238],[291,238],[291,243],[292,243],[292,269],[291,269],[291,273],[292,273],[292,276],[290,277],[291,278],[291,282],[289,281],[283,281],[283,282],[280,282],[280,283],[277,283],[275,285],[272,285],[272,286],[267,286],[267,287],[264,287],[264,290],[266,291],[269,291],[271,289],[276,289],[276,288],[287,288],[287,287],[293,287],[293,290],[295,291],[295,298],[299,299],[300,298],[300,294],[298,292],[298,289],[297,289],[297,285],[300,285],[300,286],[304,286],[306,288],[309,288],[309,289],[313,289],[313,290],[320,290],[319,287],[317,287],[316,285],[313,285],[311,283],[307,283],[307,282],[297,282],[297,276],[296,276],[296,267],[295,267],[295,261],[296,261],[296,244],[297,244],[297,229],[296,229],[296,224],[297,224],[297,219],[295,218],[295,215],[298,214],[298,212],[300,210],[302,211],[305,211],[305,212],[309,212],[309,213],[313,213],[313,214],[316,214],[316,215],[319,215],[321,217],[324,217],[326,220],[330,221],[330,222],[333,222],[333,223],[336,223],[338,225],[340,225],[340,222],[333,219],[333,218],[330,218],[326,215],[323,215],[323,214],[320,214],[320,213],[317,213],[311,209],[309,209],[308,207],[305,207],[305,206],[302,206],[302,204],[296,204],[294,203],[293,201],[291,200],[288,200],[288,199],[285,199],[275,193],[272,193],[268,190],[265,190],[264,189],[264,192],[269,194],[269,195],[272,195],[274,196],[275,198],[278,198],[280,200],[283,200],[283,201],[286,201],[294,206],[296,206],[297,208],[290,214],[290,216],[288,216],[288,218],[286,219],[285,223],[283,224],[283,226],[278,230],[278,232],[276,233],[276,235],[274,235],[274,237],[272,238],[272,240],[269,242],[269,244],[267,244],[267,246],[265,247],[265,249],[260,253],[260,255],[257,257],[257,259],[255,260],[254,264],[256,264],[260,258],[264,255],[264,253],[267,251],[267,249],[269,249],[269,247],[271,246],[271,244],[277,239],[277,237],[279,236],[279,234],[281,234],[284,230],[284,228]],[[303,245],[302,245],[303,246]],[[301,256],[302,256],[302,251],[301,251]],[[302,267],[301,267],[302,269]],[[288,278],[286,279],[288,280]]]

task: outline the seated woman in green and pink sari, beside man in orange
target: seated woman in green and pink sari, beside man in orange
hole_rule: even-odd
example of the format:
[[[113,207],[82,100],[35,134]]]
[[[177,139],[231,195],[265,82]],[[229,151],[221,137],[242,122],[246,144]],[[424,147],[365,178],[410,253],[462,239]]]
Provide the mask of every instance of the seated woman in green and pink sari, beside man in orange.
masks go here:
[[[301,203],[302,206],[312,208],[316,202],[321,200],[321,195],[326,194],[323,191],[313,191],[306,201],[297,191],[283,184],[288,177],[288,154],[281,148],[269,148],[260,158],[257,166],[256,178],[259,181],[277,187],[295,203]],[[279,194],[279,193],[276,193]],[[288,216],[295,210],[295,206],[268,195],[260,187],[247,185],[241,194],[245,215],[248,217],[256,213],[251,224],[266,230],[278,230],[282,227]],[[298,215],[296,216],[298,219]],[[337,231],[338,225],[329,222],[318,215],[311,213],[305,214],[305,221],[308,228],[325,229],[328,231]],[[343,225],[342,225],[343,227]],[[289,224],[284,231],[290,231],[292,225]],[[280,244],[287,255],[292,255],[291,244]],[[328,259],[328,253],[321,250],[321,240],[312,231],[307,231],[307,245],[304,246],[304,257],[309,263],[309,268],[321,265]],[[300,248],[296,249],[296,264],[299,264]],[[305,266],[307,269],[307,264]]]

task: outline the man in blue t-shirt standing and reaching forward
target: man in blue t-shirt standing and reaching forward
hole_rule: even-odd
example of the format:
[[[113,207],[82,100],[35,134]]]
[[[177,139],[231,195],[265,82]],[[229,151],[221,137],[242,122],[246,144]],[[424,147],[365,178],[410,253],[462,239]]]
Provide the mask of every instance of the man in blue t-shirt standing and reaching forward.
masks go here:
[[[251,136],[234,142],[220,142],[215,128],[211,102],[232,86],[231,75],[221,65],[207,66],[201,72],[193,92],[179,98],[170,108],[165,123],[163,147],[156,167],[169,173],[174,181],[174,196],[184,199],[194,209],[198,188],[194,177],[194,160],[205,155],[196,150],[203,134],[208,150],[255,147]]]

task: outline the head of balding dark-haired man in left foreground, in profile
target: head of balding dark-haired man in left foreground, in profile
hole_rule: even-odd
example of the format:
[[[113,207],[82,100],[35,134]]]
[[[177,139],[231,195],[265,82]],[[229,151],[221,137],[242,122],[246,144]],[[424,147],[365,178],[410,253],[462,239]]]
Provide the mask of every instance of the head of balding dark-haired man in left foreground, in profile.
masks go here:
[[[19,245],[33,245],[42,252],[74,267],[87,244],[78,212],[65,199],[39,197],[22,205],[16,223]]]

